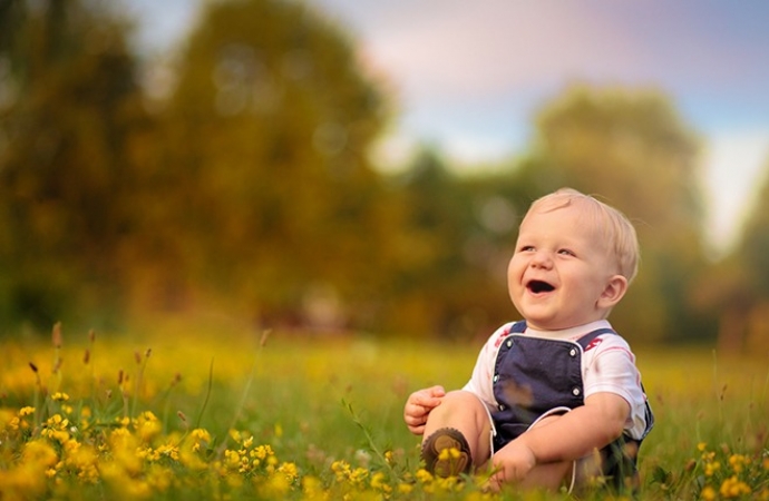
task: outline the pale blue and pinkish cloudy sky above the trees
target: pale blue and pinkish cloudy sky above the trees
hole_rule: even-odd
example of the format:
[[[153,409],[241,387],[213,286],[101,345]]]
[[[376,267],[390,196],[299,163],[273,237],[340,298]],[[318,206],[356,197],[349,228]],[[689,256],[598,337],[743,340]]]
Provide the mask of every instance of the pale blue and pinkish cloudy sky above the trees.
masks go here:
[[[124,1],[150,51],[181,39],[198,4]],[[769,168],[769,1],[305,1],[395,89],[395,158],[420,143],[464,164],[509,158],[571,82],[653,87],[702,139],[708,235],[722,252]]]

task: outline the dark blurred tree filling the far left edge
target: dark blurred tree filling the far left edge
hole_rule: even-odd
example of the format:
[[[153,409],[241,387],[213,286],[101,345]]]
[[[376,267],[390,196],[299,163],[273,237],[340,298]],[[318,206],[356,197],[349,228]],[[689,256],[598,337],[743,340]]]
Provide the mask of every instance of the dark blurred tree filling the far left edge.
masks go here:
[[[126,32],[98,1],[0,3],[6,318],[50,328],[76,299],[104,306],[118,294],[127,141],[144,120]]]

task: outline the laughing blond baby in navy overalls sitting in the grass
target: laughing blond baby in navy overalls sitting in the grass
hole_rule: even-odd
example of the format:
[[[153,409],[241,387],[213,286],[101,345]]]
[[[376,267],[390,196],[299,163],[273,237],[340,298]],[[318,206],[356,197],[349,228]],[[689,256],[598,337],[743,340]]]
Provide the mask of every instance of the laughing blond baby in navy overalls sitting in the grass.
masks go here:
[[[524,321],[491,334],[461,390],[432,386],[406,402],[427,470],[486,469],[494,491],[637,482],[654,419],[635,357],[606,320],[637,261],[635,229],[613,207],[570,188],[534,202],[507,269]]]

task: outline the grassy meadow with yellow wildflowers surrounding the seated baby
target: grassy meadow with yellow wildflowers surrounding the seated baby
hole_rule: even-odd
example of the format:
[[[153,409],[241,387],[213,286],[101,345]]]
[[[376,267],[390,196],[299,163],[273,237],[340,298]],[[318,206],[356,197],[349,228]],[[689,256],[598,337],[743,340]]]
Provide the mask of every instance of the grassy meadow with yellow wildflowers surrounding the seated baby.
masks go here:
[[[0,345],[0,499],[568,499],[420,470],[403,402],[461,385],[479,343],[172,323],[19,335]],[[637,358],[656,415],[637,497],[769,500],[768,355]]]

